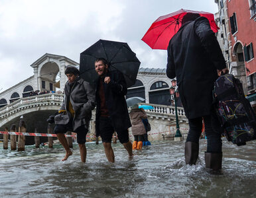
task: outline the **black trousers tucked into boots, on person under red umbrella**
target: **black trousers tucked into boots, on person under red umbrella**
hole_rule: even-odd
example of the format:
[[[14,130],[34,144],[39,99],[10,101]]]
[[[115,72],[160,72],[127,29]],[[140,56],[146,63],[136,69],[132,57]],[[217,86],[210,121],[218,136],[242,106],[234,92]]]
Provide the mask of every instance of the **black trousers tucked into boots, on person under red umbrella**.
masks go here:
[[[189,131],[187,142],[199,143],[202,133],[202,117],[188,119]],[[222,127],[218,121],[218,117],[214,112],[209,116],[204,116],[205,134],[207,138],[207,152],[222,152]]]

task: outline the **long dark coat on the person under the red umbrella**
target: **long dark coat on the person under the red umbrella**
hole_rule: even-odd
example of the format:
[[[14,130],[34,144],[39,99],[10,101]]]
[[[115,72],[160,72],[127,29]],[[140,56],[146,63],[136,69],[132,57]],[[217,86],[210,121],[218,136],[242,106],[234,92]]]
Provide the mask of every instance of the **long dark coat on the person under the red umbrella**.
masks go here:
[[[176,77],[186,116],[209,115],[217,69],[225,68],[225,59],[208,19],[199,17],[183,24],[167,51],[166,75]]]

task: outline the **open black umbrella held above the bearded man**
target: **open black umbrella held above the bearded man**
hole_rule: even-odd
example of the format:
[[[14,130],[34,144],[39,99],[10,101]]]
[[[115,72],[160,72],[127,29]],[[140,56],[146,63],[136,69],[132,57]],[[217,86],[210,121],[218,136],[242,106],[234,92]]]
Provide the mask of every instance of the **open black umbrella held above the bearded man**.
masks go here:
[[[100,57],[107,60],[110,70],[123,73],[127,87],[135,84],[141,62],[127,43],[109,40],[99,40],[80,54],[80,76],[84,80],[95,84],[98,76],[94,62]]]

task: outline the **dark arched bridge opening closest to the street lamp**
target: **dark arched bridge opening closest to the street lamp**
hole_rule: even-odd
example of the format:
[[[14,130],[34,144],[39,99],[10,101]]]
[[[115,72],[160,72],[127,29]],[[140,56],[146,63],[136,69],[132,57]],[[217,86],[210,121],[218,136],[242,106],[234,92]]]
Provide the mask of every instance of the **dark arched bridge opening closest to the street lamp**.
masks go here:
[[[164,81],[157,81],[151,85],[149,91],[149,103],[170,105],[169,86]]]

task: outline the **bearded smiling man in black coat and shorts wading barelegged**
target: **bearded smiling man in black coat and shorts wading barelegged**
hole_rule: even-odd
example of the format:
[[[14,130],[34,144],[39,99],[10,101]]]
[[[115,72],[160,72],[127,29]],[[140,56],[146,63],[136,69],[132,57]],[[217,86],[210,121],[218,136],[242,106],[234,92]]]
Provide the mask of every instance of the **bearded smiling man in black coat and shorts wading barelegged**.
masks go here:
[[[131,121],[125,101],[127,93],[125,78],[119,71],[109,71],[109,65],[103,58],[96,59],[95,69],[99,75],[96,84],[96,136],[101,136],[109,162],[115,162],[111,147],[114,131],[117,132],[118,139],[127,150],[129,157],[132,157],[133,151],[128,133]]]

